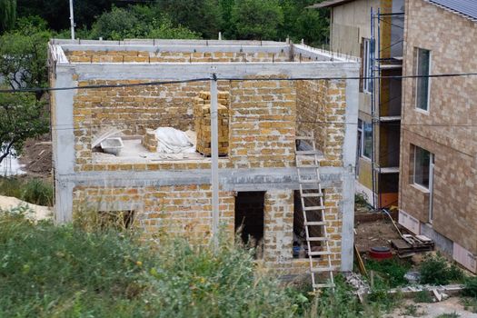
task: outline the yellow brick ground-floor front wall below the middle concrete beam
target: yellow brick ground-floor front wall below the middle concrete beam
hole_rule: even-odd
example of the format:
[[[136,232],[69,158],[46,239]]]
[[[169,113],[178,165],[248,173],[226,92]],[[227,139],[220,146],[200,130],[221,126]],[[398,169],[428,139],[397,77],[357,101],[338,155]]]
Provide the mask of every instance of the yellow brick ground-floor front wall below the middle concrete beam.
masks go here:
[[[331,237],[332,263],[341,262],[340,188],[326,189],[326,221]],[[234,240],[234,193],[219,194],[220,224]],[[146,236],[182,237],[191,243],[211,238],[212,192],[209,184],[145,187],[76,186],[74,211],[134,211],[135,226]],[[293,191],[268,191],[264,201],[263,263],[281,273],[306,273],[307,259],[293,259]],[[327,265],[323,259],[316,262]]]

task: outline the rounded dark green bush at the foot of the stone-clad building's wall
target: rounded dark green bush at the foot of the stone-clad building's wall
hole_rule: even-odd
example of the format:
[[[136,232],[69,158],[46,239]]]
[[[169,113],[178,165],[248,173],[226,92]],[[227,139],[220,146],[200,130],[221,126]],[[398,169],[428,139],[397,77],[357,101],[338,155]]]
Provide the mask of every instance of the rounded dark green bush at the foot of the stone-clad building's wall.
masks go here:
[[[421,263],[419,272],[421,273],[421,283],[445,285],[460,282],[463,278],[462,271],[454,264],[449,266],[446,259],[439,254],[426,257]]]

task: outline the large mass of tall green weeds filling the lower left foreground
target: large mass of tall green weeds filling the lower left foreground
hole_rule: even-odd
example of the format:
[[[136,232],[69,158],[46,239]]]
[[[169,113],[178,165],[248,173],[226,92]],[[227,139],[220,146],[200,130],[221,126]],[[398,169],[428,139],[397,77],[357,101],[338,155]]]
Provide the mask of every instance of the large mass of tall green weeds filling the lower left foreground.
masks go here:
[[[263,273],[250,251],[183,240],[156,247],[130,232],[2,213],[0,317],[292,317],[310,303]]]

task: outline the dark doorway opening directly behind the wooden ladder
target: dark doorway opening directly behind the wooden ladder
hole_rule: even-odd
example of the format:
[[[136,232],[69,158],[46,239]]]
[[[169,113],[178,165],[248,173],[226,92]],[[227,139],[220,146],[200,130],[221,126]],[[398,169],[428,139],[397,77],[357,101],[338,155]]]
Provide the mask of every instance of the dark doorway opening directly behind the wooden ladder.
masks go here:
[[[303,190],[303,193],[317,193],[317,190]],[[324,199],[324,190],[322,190]],[[302,197],[300,191],[293,194],[293,258],[308,257],[308,245],[306,244],[306,235],[304,229],[304,215],[302,208]],[[305,197],[305,206],[319,206],[320,199],[317,197]],[[324,200],[323,200],[324,204]],[[321,213],[318,211],[306,211],[306,218],[309,222],[322,221]],[[309,226],[310,237],[322,236],[322,226]],[[322,251],[320,242],[310,243],[313,252]],[[316,256],[319,257],[319,256]]]

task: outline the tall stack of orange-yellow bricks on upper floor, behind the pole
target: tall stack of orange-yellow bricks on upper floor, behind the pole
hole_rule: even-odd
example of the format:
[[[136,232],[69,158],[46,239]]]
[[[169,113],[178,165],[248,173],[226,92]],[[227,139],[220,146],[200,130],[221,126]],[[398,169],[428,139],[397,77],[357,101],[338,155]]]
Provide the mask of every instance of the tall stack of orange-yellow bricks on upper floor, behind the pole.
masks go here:
[[[218,93],[219,155],[229,152],[229,104],[228,92]],[[194,124],[197,133],[196,149],[204,155],[211,155],[211,95],[200,92],[194,98]]]

